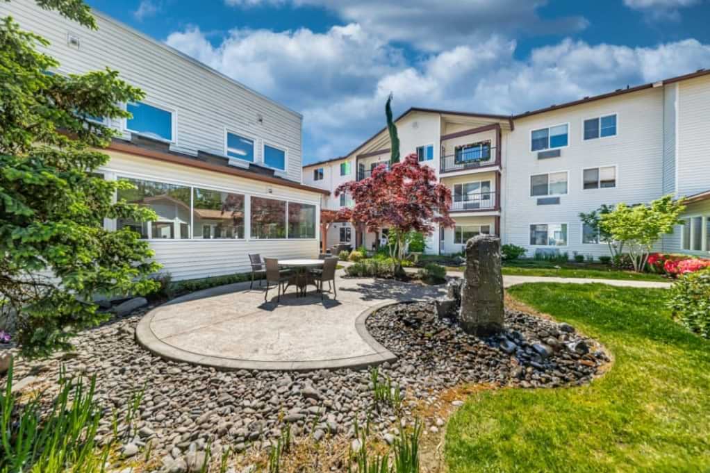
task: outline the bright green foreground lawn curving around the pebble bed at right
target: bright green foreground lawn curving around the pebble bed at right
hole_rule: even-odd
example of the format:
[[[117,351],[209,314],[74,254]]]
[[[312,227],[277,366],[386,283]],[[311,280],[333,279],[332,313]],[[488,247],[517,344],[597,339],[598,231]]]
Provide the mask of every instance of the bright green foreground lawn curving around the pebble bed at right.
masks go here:
[[[447,428],[451,473],[710,471],[710,342],[669,319],[664,290],[509,292],[599,339],[615,362],[588,386],[469,398]]]

